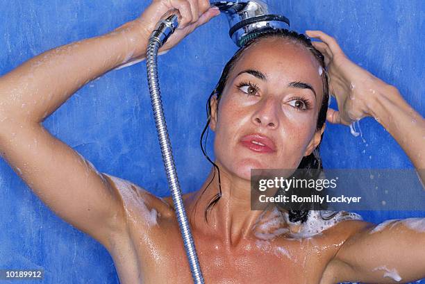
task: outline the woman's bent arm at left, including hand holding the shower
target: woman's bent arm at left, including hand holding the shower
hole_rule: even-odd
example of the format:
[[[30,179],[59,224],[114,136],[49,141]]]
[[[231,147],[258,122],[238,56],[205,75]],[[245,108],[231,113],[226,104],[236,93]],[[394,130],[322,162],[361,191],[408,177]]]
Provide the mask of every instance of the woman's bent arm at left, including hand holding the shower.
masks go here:
[[[181,21],[160,51],[218,15],[208,0],[199,3],[153,1],[115,31],[46,51],[0,78],[1,156],[57,215],[106,247],[110,234],[125,228],[119,192],[42,122],[88,81],[143,58],[147,38],[165,12],[178,9]]]

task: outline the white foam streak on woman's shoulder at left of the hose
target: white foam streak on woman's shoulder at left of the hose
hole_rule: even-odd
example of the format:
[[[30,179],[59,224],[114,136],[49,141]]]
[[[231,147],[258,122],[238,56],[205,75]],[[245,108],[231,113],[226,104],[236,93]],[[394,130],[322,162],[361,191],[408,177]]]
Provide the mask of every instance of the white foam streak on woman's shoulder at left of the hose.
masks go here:
[[[146,222],[149,226],[158,225],[158,215],[160,213],[156,211],[155,208],[149,210],[144,203],[144,199],[141,196],[141,189],[133,183],[126,181],[122,178],[117,178],[116,176],[107,175],[115,187],[121,193],[122,198],[124,199],[124,209],[126,210],[126,215],[132,220],[132,222],[138,223],[139,220]],[[131,205],[131,206],[129,206]]]

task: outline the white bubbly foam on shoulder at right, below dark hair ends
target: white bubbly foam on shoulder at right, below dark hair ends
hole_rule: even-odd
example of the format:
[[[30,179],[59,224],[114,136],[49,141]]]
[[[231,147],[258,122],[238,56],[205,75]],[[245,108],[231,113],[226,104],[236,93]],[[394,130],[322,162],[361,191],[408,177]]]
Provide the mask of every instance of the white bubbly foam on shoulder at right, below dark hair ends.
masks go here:
[[[288,213],[284,215],[288,224],[300,226],[298,232],[291,232],[292,237],[312,237],[346,220],[361,220],[360,215],[347,211],[310,210],[306,222],[290,222]]]

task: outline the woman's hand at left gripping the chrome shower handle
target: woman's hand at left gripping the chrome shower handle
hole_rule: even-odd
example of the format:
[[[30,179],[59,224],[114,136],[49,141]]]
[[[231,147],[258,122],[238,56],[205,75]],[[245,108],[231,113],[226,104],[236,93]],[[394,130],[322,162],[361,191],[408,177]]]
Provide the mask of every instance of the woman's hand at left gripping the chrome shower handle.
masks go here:
[[[163,15],[174,9],[177,9],[177,14],[180,14],[178,15],[178,27],[159,51],[172,49],[195,28],[220,13],[217,8],[210,6],[208,0],[153,0],[135,22],[140,24],[141,30],[149,37]]]

